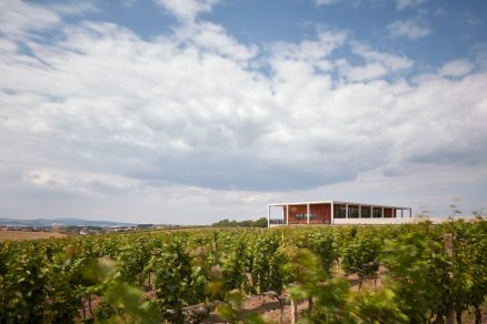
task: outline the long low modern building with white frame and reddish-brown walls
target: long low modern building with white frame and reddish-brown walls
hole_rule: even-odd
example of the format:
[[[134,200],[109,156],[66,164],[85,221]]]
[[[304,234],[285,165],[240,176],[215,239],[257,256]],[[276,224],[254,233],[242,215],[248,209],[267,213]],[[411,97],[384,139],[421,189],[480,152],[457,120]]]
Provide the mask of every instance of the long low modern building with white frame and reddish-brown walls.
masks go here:
[[[276,209],[278,215],[275,216]],[[344,201],[315,201],[269,204],[269,227],[297,224],[387,224],[405,223],[396,219],[411,219],[407,206],[378,205]],[[405,220],[406,221],[406,220]]]

